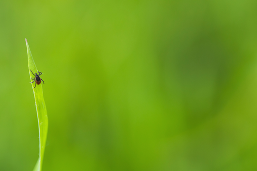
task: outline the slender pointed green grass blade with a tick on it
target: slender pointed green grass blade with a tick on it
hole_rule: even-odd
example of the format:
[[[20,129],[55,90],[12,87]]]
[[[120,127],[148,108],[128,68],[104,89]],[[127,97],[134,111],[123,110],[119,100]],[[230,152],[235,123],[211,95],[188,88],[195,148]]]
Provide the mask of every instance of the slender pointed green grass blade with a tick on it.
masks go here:
[[[35,62],[32,58],[32,54],[30,52],[29,44],[27,40],[26,40],[26,45],[27,45],[27,52],[28,52],[29,75],[30,75],[30,80],[32,80],[31,78],[34,78],[35,76],[31,73],[31,71],[35,74],[35,72],[38,72],[38,69],[36,69]],[[43,97],[42,84],[36,85],[36,87],[34,88],[34,83],[33,83],[32,89],[34,92],[35,107],[36,107],[36,113],[38,115],[38,122],[39,122],[39,146],[40,146],[39,159],[38,159],[38,162],[36,162],[36,165],[33,171],[41,171],[43,158],[44,158],[46,137],[47,137],[48,118],[47,118],[45,100]]]

